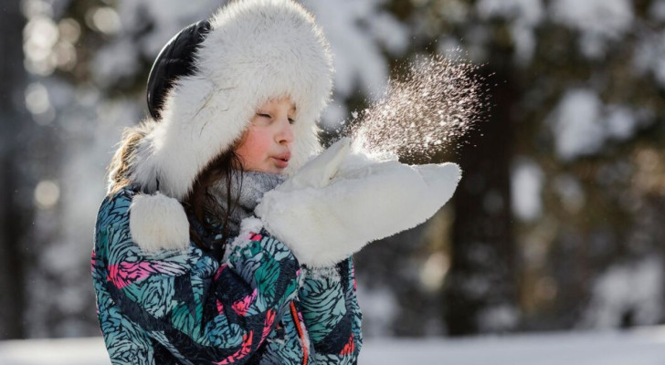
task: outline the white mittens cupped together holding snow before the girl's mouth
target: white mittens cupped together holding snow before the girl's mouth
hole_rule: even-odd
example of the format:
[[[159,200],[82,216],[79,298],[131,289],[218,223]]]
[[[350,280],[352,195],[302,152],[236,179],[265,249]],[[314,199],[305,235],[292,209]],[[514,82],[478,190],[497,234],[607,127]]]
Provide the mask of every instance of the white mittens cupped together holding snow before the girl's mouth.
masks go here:
[[[330,266],[367,243],[425,222],[449,201],[454,163],[409,166],[349,154],[343,139],[266,193],[255,213],[301,264]]]

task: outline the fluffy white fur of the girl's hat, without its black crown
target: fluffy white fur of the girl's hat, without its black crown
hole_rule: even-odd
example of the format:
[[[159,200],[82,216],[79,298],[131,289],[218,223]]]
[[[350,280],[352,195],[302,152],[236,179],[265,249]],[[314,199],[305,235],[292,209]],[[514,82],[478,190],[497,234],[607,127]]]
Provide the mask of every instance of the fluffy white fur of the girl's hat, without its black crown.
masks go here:
[[[332,55],[311,14],[291,0],[239,0],[221,8],[211,26],[195,75],[176,82],[162,120],[138,146],[132,181],[142,191],[183,199],[273,98],[296,104],[287,172],[321,150],[316,122],[332,92]]]

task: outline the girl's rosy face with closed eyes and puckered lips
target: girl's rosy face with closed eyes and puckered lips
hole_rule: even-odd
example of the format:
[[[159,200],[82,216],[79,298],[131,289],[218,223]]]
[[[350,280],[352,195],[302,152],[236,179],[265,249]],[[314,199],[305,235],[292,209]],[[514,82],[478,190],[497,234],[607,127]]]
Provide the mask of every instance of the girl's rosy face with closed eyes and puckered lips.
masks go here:
[[[281,173],[286,169],[295,111],[289,98],[270,99],[261,105],[235,150],[245,171]]]

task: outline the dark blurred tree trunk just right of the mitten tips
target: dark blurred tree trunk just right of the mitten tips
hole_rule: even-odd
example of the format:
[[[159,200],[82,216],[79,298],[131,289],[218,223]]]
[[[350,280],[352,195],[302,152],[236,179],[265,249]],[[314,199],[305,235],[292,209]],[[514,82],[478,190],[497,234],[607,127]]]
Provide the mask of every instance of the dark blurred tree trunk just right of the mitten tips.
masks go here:
[[[501,62],[489,64],[497,68]],[[510,330],[517,324],[510,193],[510,112],[517,98],[508,75],[498,71],[490,77],[498,83],[488,91],[491,116],[470,132],[469,143],[459,151],[463,174],[455,193],[452,265],[443,294],[450,336]]]

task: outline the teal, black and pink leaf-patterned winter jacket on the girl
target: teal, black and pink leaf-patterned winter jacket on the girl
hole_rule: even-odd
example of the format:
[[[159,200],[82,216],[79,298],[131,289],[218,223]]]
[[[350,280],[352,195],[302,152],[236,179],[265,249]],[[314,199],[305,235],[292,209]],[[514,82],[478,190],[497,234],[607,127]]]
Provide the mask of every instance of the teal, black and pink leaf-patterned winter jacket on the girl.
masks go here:
[[[195,245],[134,245],[125,189],[101,203],[92,252],[100,328],[113,365],[353,364],[361,348],[354,266],[301,268],[265,231],[219,262]]]

